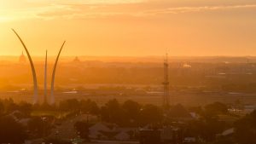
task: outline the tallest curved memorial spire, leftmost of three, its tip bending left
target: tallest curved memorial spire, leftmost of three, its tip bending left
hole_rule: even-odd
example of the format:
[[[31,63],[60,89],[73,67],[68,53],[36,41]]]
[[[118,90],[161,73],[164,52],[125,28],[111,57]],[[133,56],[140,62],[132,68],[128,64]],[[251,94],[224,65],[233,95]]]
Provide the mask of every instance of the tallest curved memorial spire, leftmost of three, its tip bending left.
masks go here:
[[[15,32],[14,29],[12,29],[13,32]],[[16,36],[20,39],[20,43],[23,45],[24,49],[26,50],[26,55],[28,56],[28,60],[30,62],[30,66],[32,69],[32,75],[33,75],[33,83],[34,83],[34,99],[33,99],[33,103],[37,103],[38,102],[38,79],[37,79],[37,74],[36,74],[36,70],[32,61],[32,58],[28,52],[28,50],[26,49],[26,45],[25,43],[23,43],[22,39],[20,38],[20,36],[18,35],[17,32],[15,32]]]

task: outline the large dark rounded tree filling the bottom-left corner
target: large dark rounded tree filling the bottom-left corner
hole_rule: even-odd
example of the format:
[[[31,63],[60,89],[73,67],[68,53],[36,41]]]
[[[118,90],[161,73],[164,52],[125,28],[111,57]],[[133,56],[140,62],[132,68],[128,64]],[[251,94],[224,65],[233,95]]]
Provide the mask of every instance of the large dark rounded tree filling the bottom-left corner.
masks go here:
[[[24,143],[26,131],[14,118],[0,118],[0,143]]]

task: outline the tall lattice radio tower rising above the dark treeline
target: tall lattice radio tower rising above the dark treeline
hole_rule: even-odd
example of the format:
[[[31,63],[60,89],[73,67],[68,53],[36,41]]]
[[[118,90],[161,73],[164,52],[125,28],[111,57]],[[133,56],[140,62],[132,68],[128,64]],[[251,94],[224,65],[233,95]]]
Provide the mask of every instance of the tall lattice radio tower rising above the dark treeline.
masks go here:
[[[168,64],[168,53],[166,53],[166,59],[164,60],[164,96],[163,96],[163,107],[169,107],[169,64]]]

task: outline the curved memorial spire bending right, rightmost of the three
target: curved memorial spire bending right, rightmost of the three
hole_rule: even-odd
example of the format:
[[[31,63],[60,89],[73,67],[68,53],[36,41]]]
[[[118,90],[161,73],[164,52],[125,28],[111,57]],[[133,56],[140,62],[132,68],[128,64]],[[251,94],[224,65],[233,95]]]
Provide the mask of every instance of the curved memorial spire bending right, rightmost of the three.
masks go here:
[[[58,60],[59,57],[61,55],[61,50],[63,49],[64,44],[66,43],[66,41],[64,41],[64,43],[62,43],[61,45],[61,49],[59,51],[59,54],[57,55],[57,58],[55,60],[55,66],[52,72],[52,77],[51,77],[51,89],[50,89],[50,104],[54,104],[55,103],[55,95],[54,95],[54,90],[55,90],[55,72],[56,72],[56,67],[58,64]]]

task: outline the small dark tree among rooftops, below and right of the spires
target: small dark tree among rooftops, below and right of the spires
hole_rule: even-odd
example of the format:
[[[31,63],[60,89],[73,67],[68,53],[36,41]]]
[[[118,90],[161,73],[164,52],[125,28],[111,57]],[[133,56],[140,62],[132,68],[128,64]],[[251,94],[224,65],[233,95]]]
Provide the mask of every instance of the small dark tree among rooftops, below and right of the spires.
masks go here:
[[[85,121],[79,121],[74,124],[75,129],[79,132],[79,136],[85,140],[89,140],[90,125]]]

